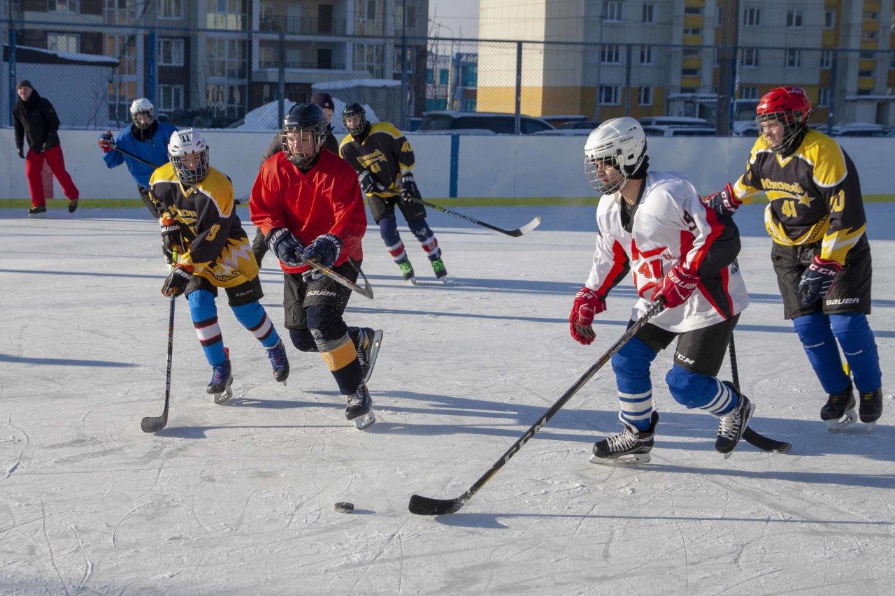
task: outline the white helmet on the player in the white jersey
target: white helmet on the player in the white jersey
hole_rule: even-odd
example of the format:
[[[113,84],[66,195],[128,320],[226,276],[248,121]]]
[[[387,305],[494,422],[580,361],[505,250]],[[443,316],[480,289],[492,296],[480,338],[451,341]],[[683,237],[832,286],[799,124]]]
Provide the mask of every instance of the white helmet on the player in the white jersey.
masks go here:
[[[645,156],[646,134],[640,123],[630,116],[612,118],[594,129],[584,143],[584,175],[597,191],[617,192],[644,163]],[[618,170],[621,181],[602,183],[598,163],[609,163]]]

